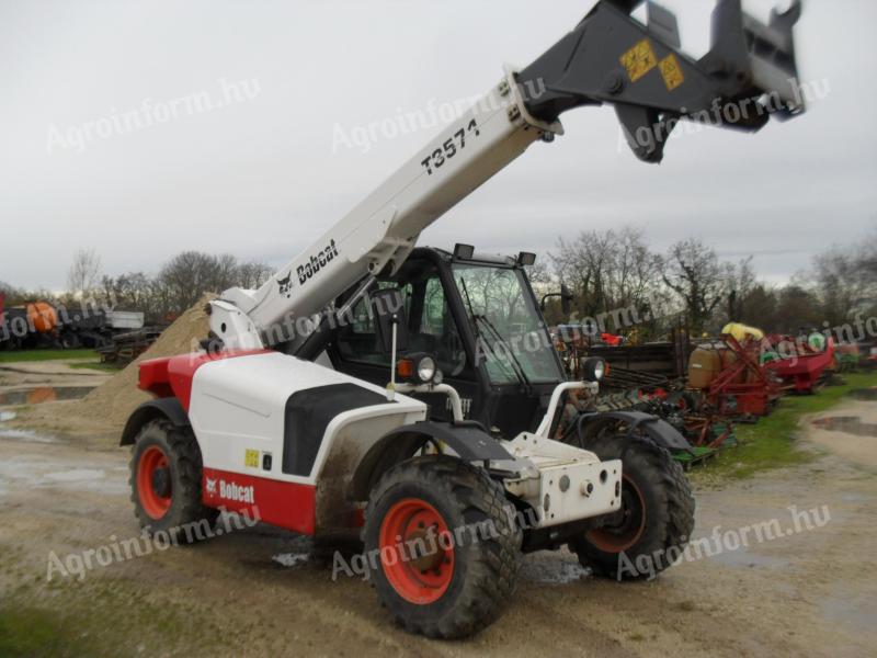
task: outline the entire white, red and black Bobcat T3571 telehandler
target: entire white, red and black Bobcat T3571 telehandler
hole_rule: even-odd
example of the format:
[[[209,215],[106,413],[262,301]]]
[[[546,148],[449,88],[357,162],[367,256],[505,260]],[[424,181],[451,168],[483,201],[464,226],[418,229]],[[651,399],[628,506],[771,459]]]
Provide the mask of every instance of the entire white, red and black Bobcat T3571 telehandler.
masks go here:
[[[567,381],[524,271],[534,257],[415,249],[527,147],[562,135],[568,110],[613,105],[647,162],[680,120],[754,132],[804,111],[798,2],[763,24],[719,0],[698,60],[669,11],[634,19],[640,3],[602,0],[533,64],[506,67],[262,287],[212,302],[201,352],[141,363],[155,399],[122,444],[143,526],[179,532],[226,509],[361,540],[394,619],[443,638],[497,619],[522,553],[569,546],[619,580],[679,556],[694,499],[670,426],[583,413],[567,442],[551,439],[567,396],[594,393],[604,365]]]

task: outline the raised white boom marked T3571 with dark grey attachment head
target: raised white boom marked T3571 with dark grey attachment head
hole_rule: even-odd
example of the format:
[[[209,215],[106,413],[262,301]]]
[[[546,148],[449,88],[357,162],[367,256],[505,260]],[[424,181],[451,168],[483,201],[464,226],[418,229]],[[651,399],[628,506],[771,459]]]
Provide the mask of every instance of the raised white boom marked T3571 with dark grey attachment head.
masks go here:
[[[395,272],[421,231],[536,140],[562,134],[561,113],[615,106],[634,152],[659,162],[681,118],[756,131],[772,113],[804,111],[793,25],[796,1],[768,25],[740,0],[719,0],[713,48],[701,60],[680,50],[675,16],[641,0],[601,0],[579,25],[502,81],[258,291],[231,288],[212,303],[210,331],[227,348],[261,348],[307,331],[357,281]]]

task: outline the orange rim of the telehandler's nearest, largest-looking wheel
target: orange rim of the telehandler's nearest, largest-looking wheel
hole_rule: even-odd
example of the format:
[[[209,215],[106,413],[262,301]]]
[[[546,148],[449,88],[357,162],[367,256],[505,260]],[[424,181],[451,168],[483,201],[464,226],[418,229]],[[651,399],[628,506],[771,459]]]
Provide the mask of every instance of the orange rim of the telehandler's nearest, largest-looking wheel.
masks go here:
[[[441,599],[454,579],[454,541],[444,518],[419,498],[396,502],[380,524],[380,565],[409,603]]]

